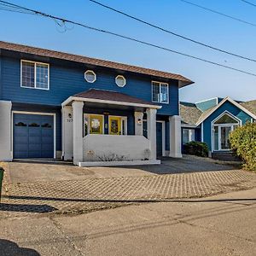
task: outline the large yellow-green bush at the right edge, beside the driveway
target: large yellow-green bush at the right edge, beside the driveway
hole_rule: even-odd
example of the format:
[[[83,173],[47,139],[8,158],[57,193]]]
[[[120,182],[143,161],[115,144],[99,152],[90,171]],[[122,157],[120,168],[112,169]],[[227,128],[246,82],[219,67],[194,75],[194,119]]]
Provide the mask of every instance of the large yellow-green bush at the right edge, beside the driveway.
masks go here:
[[[248,171],[256,171],[256,123],[247,123],[230,132],[230,146]]]

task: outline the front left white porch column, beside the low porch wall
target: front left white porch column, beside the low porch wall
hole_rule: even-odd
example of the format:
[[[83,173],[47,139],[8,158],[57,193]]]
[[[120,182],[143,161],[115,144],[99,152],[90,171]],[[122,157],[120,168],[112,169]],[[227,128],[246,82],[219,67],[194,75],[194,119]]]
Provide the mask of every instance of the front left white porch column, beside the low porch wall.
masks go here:
[[[84,102],[73,102],[73,163],[83,161],[83,107]]]

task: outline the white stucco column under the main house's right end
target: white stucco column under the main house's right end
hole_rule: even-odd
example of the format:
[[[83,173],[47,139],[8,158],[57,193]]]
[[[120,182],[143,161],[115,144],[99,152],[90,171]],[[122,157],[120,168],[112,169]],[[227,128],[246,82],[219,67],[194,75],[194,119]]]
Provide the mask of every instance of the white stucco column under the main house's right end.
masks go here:
[[[170,125],[170,157],[183,157],[181,154],[181,117],[169,116]]]

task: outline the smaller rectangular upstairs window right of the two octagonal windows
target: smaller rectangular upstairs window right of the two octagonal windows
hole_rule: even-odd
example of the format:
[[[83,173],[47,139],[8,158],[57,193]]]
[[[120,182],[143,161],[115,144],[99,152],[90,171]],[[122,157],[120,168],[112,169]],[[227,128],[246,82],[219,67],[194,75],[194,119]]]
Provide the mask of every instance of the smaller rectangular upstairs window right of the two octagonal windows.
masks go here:
[[[152,102],[169,103],[169,84],[152,81]]]

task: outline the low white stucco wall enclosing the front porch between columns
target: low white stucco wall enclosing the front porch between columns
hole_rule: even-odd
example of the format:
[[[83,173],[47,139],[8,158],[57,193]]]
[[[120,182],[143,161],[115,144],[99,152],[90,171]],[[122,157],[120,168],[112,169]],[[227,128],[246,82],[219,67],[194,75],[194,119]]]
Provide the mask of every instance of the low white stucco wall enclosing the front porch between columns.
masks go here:
[[[84,161],[149,159],[149,140],[143,136],[87,135]]]

